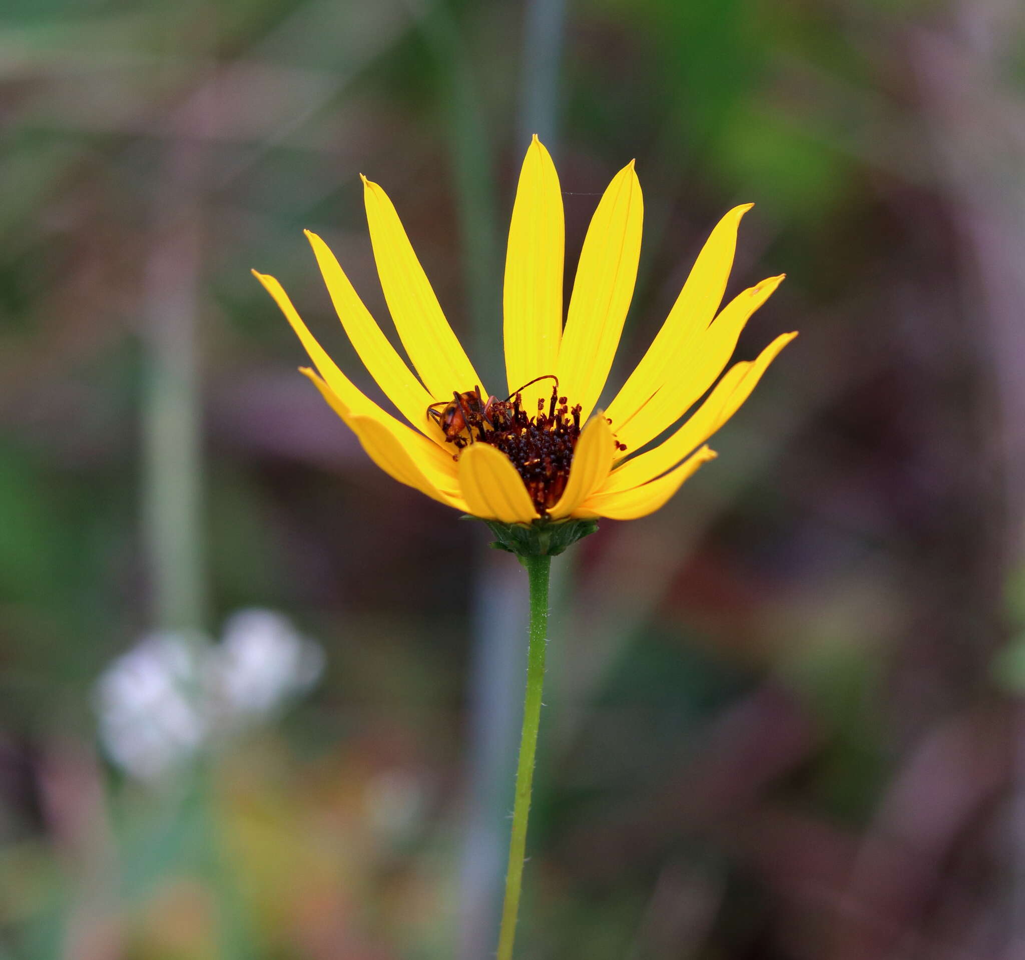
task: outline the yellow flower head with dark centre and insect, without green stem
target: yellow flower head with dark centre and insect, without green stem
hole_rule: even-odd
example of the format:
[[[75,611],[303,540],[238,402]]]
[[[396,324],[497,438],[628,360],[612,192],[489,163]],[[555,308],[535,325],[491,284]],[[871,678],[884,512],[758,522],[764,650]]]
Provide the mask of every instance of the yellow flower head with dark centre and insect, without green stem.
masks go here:
[[[719,309],[737,227],[750,204],[735,207],[712,231],[648,352],[608,410],[591,416],[637,280],[643,203],[633,163],[616,174],[591,218],[564,327],[559,177],[536,136],[528,149],[505,260],[505,372],[512,391],[506,401],[489,399],[483,390],[384,191],[366,177],[363,187],[384,299],[415,375],[324,241],[309,231],[306,237],[353,346],[411,425],[382,410],[345,377],[277,280],[256,277],[320,375],[302,372],[374,463],[400,483],[465,513],[530,524],[541,518],[631,519],[657,510],[715,456],[702,445],[796,336],[783,334],[753,362],[731,367],[675,432],[636,453],[712,386],[747,319],[783,279],[764,280]]]

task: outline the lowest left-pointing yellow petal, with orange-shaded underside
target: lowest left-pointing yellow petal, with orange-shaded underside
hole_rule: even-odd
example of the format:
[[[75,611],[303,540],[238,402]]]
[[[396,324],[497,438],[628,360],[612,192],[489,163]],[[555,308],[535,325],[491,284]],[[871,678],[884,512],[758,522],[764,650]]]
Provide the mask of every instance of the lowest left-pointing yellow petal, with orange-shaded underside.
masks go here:
[[[415,487],[428,497],[464,510],[465,504],[458,493],[455,461],[429,441],[414,433],[408,426],[392,418],[391,424],[376,417],[354,414],[338,395],[308,367],[300,373],[309,377],[321,391],[331,409],[356,433],[367,452],[385,473],[400,484]],[[442,453],[444,459],[432,451]]]

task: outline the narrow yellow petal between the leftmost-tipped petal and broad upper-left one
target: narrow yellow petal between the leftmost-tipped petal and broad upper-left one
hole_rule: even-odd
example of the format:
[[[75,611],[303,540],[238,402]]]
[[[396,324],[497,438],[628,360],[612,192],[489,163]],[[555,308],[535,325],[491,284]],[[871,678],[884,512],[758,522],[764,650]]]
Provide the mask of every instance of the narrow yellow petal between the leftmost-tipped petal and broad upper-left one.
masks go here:
[[[327,244],[311,231],[305,231],[305,235],[314,249],[338,319],[367,372],[413,426],[443,444],[444,434],[427,416],[427,407],[434,403],[434,396],[424,389],[398,350],[381,333],[380,327],[363,305]]]

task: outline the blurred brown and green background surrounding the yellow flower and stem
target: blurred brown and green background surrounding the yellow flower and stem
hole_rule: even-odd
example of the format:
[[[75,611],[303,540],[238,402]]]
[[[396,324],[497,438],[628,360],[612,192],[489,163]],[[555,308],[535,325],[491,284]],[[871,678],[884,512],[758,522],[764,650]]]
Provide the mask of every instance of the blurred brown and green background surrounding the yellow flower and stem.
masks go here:
[[[802,336],[559,561],[520,956],[1025,956],[1019,4],[7,0],[0,111],[0,960],[491,955],[522,571],[249,269],[372,390],[365,172],[498,382],[532,132],[568,280],[637,158],[613,386],[736,203]]]

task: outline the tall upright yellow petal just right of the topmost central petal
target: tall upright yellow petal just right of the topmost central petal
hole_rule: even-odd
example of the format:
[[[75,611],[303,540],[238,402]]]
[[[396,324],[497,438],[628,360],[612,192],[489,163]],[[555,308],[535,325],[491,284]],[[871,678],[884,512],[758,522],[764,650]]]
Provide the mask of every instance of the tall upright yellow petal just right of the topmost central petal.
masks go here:
[[[631,160],[613,177],[587,227],[559,348],[559,393],[570,406],[580,404],[583,419],[598,403],[619,345],[637,282],[643,219]]]

